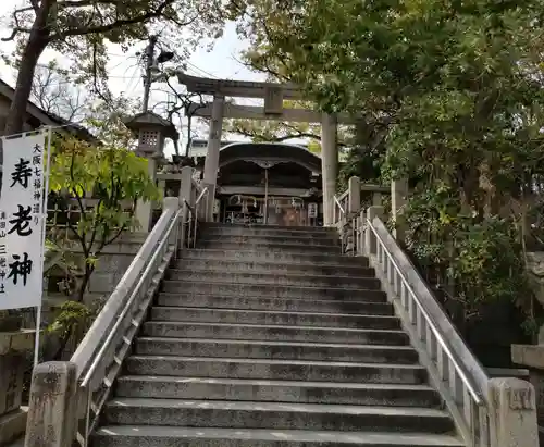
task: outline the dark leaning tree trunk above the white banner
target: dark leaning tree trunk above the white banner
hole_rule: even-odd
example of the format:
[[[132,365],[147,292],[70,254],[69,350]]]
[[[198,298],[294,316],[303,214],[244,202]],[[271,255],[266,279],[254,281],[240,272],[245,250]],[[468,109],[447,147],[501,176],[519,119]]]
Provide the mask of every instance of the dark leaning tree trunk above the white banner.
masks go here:
[[[49,24],[48,18],[51,9],[57,0],[45,0],[41,2],[36,18],[34,20],[28,40],[23,50],[21,64],[18,66],[15,94],[11,102],[10,113],[4,127],[4,135],[12,135],[23,132],[26,115],[26,107],[30,97],[34,72],[38,59],[49,44]],[[3,161],[3,157],[2,157]]]

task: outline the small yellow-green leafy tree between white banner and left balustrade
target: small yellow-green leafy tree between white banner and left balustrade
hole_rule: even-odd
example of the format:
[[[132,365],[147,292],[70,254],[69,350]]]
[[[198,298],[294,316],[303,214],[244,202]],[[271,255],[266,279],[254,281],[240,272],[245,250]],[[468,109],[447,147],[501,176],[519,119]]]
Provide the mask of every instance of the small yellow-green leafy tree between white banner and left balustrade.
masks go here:
[[[50,202],[66,212],[75,209],[78,214],[76,222],[67,219],[66,236],[79,246],[85,259],[79,301],[102,249],[139,225],[136,202],[160,198],[147,160],[108,142],[97,147],[58,136],[52,144]],[[89,198],[91,206],[87,204]]]

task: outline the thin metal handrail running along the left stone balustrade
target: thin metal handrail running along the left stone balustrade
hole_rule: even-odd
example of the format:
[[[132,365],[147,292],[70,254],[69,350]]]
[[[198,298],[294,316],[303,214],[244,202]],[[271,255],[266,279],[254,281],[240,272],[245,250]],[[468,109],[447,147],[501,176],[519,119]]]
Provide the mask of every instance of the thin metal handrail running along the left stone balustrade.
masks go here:
[[[157,249],[152,253],[152,257],[149,260],[146,269],[144,270],[144,272],[139,276],[139,280],[136,283],[136,286],[134,286],[133,291],[131,294],[131,297],[126,301],[125,307],[123,308],[123,311],[118,316],[118,319],[115,321],[115,324],[113,325],[113,327],[109,332],[108,337],[103,342],[102,346],[100,347],[100,350],[95,356],[95,360],[92,361],[92,363],[90,364],[87,373],[85,374],[85,376],[84,376],[84,378],[82,381],[82,384],[81,384],[82,387],[87,386],[88,383],[90,382],[90,378],[92,377],[92,374],[95,373],[96,369],[98,368],[98,365],[100,363],[100,360],[102,359],[104,352],[109,349],[112,340],[114,339],[114,337],[116,335],[116,332],[119,331],[121,324],[123,323],[123,319],[126,316],[126,314],[128,313],[128,311],[132,309],[132,305],[133,305],[134,300],[136,299],[138,293],[140,291],[140,287],[144,284],[144,281],[147,278],[147,275],[149,274],[149,272],[151,271],[151,269],[153,269],[154,261],[157,261],[157,258],[160,254],[161,249],[163,248],[164,244],[168,243],[170,233],[175,227],[175,225],[178,223],[181,214],[182,214],[182,209],[177,210],[177,212],[174,214],[174,219],[172,219],[170,225],[168,226],[168,228],[163,233],[163,237],[160,239],[159,246],[157,247]]]

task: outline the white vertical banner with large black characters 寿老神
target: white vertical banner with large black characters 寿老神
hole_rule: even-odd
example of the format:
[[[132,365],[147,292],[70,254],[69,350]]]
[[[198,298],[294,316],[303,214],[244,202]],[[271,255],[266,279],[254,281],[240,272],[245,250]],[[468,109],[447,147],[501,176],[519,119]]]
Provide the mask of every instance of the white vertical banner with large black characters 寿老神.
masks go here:
[[[41,306],[46,134],[3,139],[0,309]]]

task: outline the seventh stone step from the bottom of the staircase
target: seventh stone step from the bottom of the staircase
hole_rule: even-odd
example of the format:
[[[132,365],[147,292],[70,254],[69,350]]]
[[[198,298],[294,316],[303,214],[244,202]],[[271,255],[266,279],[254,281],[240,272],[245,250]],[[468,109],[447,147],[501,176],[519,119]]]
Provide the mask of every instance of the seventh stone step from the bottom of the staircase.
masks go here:
[[[400,320],[394,315],[356,315],[349,313],[283,312],[238,309],[208,309],[154,306],[150,320],[191,321],[200,323],[277,324],[294,326],[356,327],[398,330]]]

